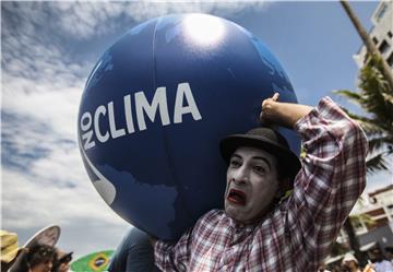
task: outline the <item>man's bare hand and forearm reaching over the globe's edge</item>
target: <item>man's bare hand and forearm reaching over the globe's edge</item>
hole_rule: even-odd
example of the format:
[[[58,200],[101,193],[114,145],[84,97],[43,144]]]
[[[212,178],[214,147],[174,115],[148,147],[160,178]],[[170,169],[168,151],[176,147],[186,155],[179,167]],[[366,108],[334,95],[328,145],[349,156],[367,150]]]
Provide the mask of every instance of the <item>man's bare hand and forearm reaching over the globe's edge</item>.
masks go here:
[[[312,107],[278,102],[279,94],[262,102],[260,120],[263,126],[281,126],[293,129],[295,123],[311,111]]]

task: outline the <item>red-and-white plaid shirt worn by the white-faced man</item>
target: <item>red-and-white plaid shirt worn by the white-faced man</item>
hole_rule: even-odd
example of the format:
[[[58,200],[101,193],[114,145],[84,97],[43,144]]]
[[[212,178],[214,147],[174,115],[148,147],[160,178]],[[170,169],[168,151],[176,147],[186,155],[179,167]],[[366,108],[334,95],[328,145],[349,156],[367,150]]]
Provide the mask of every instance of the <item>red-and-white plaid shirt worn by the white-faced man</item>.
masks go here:
[[[222,210],[199,218],[176,244],[157,241],[163,271],[314,272],[366,186],[367,139],[329,97],[297,121],[307,155],[294,192],[254,225]]]

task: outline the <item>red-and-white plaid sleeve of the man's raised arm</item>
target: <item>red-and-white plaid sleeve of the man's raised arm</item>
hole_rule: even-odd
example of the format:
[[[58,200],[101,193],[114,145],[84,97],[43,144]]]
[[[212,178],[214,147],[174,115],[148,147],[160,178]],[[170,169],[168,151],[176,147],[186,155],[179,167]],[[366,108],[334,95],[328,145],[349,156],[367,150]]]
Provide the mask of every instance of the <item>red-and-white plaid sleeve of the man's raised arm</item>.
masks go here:
[[[359,125],[329,97],[295,130],[306,157],[288,202],[287,227],[297,265],[315,271],[366,186],[368,145]]]

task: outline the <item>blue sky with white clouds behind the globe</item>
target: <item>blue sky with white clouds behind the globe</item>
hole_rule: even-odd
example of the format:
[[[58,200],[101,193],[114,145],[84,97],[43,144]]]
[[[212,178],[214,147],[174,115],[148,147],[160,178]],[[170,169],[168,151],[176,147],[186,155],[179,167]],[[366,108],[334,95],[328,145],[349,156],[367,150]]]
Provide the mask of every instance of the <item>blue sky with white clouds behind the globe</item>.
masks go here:
[[[350,2],[367,28],[378,2]],[[361,42],[338,2],[1,2],[2,228],[24,244],[62,228],[76,256],[115,248],[129,228],[99,198],[83,168],[76,115],[85,81],[105,49],[148,19],[204,12],[234,21],[275,54],[298,100],[315,105],[356,88]],[[392,162],[391,162],[392,163]],[[392,163],[393,164],[393,163]],[[369,177],[368,190],[392,182]]]

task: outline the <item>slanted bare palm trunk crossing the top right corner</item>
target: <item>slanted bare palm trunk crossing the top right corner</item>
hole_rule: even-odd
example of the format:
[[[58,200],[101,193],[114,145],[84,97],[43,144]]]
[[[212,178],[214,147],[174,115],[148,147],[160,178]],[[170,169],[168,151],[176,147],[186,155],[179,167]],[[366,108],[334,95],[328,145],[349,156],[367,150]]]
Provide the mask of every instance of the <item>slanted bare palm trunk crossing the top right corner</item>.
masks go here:
[[[383,76],[385,78],[385,80],[388,81],[391,92],[393,93],[393,73],[392,73],[390,67],[388,66],[388,62],[382,58],[380,51],[377,50],[377,47],[372,43],[372,40],[369,37],[365,27],[362,27],[359,19],[356,16],[356,14],[353,11],[353,9],[350,8],[349,3],[345,0],[341,0],[340,2],[343,5],[346,13],[348,14],[350,21],[353,22],[353,24],[354,24],[356,31],[358,32],[359,36],[361,37],[362,42],[365,43],[367,51],[370,55],[377,55],[382,60],[382,71],[381,72],[382,72]]]

